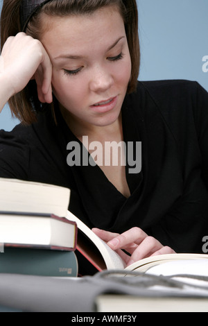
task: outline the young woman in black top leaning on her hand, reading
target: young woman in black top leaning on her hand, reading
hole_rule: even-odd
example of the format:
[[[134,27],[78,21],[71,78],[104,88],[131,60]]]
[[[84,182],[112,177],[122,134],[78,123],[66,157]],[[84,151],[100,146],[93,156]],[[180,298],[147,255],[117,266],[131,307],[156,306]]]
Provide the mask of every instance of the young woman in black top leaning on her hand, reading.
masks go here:
[[[69,210],[126,264],[202,252],[208,234],[208,94],[137,82],[137,31],[135,0],[7,0],[1,12],[0,103],[22,123],[1,130],[0,176],[69,187]],[[112,141],[125,164],[96,160]]]

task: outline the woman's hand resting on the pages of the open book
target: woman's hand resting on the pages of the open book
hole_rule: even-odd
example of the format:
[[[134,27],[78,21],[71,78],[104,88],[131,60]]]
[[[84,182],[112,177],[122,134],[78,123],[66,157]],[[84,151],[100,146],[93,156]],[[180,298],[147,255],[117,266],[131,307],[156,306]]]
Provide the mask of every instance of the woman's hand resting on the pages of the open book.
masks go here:
[[[122,234],[97,228],[93,228],[92,231],[103,239],[110,248],[119,253],[126,266],[146,257],[175,253],[173,249],[163,246],[157,239],[149,237],[140,228],[135,227]],[[130,256],[125,254],[122,249],[129,252]]]

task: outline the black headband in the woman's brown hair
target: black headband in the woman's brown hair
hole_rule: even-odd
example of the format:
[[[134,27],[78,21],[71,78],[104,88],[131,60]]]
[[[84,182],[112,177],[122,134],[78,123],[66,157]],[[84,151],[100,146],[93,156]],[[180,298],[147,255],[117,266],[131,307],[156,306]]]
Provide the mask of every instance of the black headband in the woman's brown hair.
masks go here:
[[[22,0],[20,6],[20,17],[21,17],[21,31],[26,30],[28,21],[31,19],[35,11],[42,7],[46,2],[51,0]]]

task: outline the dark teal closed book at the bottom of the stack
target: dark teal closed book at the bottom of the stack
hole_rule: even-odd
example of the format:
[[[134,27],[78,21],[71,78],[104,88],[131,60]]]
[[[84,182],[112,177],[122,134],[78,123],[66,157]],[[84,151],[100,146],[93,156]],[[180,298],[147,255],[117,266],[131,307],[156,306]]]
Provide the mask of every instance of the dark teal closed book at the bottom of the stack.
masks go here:
[[[0,273],[76,277],[78,264],[73,251],[6,247],[0,253]]]

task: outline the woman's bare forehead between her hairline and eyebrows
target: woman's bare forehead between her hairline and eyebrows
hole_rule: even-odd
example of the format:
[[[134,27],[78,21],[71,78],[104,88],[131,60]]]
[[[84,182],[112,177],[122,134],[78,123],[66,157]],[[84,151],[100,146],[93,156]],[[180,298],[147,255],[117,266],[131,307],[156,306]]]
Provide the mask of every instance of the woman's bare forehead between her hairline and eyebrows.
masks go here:
[[[41,41],[53,55],[69,49],[77,54],[105,49],[125,35],[123,17],[115,6],[96,10],[90,15],[45,17],[44,24],[47,28]]]

